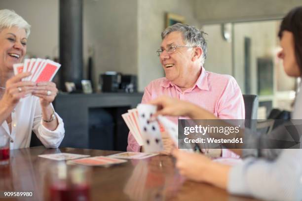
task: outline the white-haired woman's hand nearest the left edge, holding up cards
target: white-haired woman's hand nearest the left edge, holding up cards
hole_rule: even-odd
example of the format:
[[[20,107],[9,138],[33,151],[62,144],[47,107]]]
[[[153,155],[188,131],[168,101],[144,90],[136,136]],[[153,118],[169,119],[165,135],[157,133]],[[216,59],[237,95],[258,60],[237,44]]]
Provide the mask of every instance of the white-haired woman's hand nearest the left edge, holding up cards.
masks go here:
[[[1,105],[14,109],[20,99],[31,94],[36,89],[36,84],[30,81],[21,81],[22,78],[31,75],[30,72],[19,73],[6,81],[5,92],[1,99]]]

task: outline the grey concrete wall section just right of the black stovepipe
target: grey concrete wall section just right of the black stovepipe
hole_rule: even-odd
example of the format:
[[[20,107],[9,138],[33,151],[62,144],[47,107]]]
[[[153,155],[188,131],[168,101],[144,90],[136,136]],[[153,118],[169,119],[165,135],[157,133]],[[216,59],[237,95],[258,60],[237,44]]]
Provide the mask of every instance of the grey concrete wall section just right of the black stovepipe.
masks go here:
[[[84,0],[83,52],[94,50],[94,82],[105,71],[137,74],[137,0]]]

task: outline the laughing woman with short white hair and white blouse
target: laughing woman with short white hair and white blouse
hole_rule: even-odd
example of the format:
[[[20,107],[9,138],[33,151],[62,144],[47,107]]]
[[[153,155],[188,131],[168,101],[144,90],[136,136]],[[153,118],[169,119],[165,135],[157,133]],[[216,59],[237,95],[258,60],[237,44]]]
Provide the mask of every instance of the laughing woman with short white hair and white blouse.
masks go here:
[[[65,130],[51,104],[58,92],[55,83],[22,81],[30,72],[13,72],[13,65],[23,62],[29,34],[21,16],[0,10],[0,133],[10,135],[10,149],[29,147],[32,131],[45,147],[56,148]]]

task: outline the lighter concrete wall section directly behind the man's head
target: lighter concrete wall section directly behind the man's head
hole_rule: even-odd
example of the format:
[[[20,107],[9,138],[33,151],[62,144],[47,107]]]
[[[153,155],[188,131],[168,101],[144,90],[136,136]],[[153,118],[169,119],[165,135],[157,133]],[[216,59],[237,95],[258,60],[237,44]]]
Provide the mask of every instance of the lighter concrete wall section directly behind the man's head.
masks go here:
[[[186,23],[201,28],[193,16],[194,0],[138,0],[138,78],[139,90],[153,79],[163,77],[156,50],[160,47],[160,33],[164,30],[165,12],[186,18]]]

